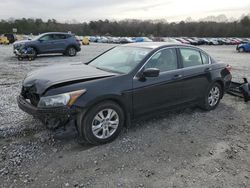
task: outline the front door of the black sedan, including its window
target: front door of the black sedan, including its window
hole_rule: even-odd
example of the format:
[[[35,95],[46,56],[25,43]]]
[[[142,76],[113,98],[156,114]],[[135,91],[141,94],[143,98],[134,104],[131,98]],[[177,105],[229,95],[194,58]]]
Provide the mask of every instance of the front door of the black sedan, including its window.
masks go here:
[[[157,68],[160,75],[153,78],[133,79],[133,110],[135,116],[182,103],[182,70],[175,48],[156,52],[142,67]]]

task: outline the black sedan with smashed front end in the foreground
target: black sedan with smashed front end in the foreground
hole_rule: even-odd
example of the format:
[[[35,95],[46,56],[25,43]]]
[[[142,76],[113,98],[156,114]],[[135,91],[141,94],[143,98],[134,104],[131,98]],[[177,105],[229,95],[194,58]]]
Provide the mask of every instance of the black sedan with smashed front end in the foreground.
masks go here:
[[[189,105],[215,109],[231,78],[225,64],[197,47],[133,43],[88,63],[35,70],[17,101],[49,128],[73,121],[86,142],[103,144],[141,116]]]

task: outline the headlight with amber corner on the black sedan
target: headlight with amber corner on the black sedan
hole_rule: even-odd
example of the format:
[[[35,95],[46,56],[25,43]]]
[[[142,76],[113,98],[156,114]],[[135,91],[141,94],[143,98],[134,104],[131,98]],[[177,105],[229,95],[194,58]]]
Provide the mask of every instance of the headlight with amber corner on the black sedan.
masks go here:
[[[77,98],[84,93],[86,93],[86,89],[73,91],[69,93],[63,93],[59,95],[48,96],[48,97],[41,97],[38,103],[38,107],[59,107],[59,106],[71,107],[77,100]]]

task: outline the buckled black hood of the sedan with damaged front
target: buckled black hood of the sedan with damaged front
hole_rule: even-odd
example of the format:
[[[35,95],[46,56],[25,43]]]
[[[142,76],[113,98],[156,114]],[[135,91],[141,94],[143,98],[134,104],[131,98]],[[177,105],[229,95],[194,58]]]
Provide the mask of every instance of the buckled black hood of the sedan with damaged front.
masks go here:
[[[27,74],[23,86],[33,88],[37,94],[44,93],[49,87],[57,84],[83,82],[114,76],[116,73],[106,72],[84,63],[70,63],[48,66]]]

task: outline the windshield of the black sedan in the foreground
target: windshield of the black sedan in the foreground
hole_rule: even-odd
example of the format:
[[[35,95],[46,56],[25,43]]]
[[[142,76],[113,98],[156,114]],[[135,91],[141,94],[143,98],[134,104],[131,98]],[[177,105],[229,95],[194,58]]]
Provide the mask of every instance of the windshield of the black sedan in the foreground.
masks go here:
[[[150,48],[119,46],[94,59],[89,65],[109,72],[127,74],[132,71],[150,51]]]

